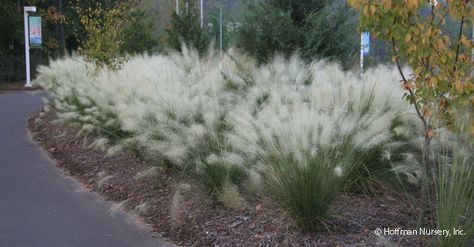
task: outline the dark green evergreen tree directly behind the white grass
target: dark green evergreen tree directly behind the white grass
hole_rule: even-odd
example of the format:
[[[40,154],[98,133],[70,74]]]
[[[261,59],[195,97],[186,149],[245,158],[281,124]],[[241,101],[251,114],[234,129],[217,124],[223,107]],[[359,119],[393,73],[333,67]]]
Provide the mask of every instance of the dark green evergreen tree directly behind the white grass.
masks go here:
[[[249,6],[238,46],[265,62],[299,51],[308,59],[335,60],[349,67],[357,51],[355,12],[344,1],[273,1]]]

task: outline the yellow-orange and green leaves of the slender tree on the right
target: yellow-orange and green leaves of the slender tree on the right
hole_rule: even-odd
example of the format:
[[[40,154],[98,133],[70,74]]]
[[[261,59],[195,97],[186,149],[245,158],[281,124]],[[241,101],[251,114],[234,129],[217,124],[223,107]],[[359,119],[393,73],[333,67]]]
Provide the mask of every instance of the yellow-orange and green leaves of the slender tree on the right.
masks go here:
[[[452,126],[456,115],[474,107],[474,77],[471,73],[473,44],[464,31],[473,25],[470,1],[349,1],[361,12],[360,28],[370,30],[391,44],[393,62],[402,59],[412,74],[400,70],[406,99],[425,128],[426,142],[433,129]],[[406,2],[406,3],[405,3]],[[448,18],[449,17],[449,18]],[[445,28],[447,19],[457,34]],[[474,133],[474,119],[469,121]]]

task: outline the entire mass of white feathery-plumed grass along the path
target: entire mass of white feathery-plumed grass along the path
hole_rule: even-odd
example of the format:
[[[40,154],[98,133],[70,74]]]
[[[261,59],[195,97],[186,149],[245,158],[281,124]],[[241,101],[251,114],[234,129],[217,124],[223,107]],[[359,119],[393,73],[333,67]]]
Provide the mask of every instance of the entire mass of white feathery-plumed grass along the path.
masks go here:
[[[93,74],[81,58],[65,58],[41,67],[37,82],[62,120],[111,152],[179,171],[231,208],[273,198],[305,231],[324,226],[339,193],[396,181],[419,126],[395,71],[359,77],[298,56],[255,64],[232,50],[200,56],[184,47]]]

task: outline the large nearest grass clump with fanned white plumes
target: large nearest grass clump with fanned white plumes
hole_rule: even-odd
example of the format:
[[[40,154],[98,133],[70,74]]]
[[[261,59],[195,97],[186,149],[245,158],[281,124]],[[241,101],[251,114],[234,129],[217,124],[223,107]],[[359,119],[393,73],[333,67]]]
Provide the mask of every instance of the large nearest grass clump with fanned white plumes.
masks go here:
[[[334,64],[276,58],[255,71],[232,112],[229,152],[303,230],[321,227],[341,191],[395,180],[392,168],[419,129],[397,78],[386,68],[359,79]]]

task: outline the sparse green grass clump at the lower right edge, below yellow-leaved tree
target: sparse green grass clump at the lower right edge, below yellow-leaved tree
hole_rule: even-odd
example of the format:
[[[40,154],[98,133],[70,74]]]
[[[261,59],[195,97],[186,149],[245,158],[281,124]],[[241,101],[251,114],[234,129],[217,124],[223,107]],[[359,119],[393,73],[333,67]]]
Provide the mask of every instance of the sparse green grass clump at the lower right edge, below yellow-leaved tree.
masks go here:
[[[466,235],[440,237],[438,244],[468,247],[474,245],[474,139],[469,135],[454,139],[454,146],[450,147],[448,140],[440,140],[444,148],[438,160],[438,174],[433,179],[436,223],[439,229],[455,228]]]

